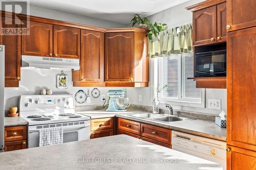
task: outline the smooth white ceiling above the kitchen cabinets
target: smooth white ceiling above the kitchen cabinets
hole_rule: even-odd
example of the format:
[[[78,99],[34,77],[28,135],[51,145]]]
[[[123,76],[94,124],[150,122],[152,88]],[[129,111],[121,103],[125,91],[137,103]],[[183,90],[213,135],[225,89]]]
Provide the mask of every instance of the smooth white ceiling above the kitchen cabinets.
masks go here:
[[[30,0],[30,5],[129,24],[134,14],[150,16],[189,0]]]

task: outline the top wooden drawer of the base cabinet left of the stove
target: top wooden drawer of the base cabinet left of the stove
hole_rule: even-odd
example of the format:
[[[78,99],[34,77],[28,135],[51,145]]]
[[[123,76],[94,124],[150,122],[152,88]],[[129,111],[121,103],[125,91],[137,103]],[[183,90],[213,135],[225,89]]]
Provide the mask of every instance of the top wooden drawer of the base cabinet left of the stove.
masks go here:
[[[27,126],[15,126],[5,128],[5,141],[27,139]]]

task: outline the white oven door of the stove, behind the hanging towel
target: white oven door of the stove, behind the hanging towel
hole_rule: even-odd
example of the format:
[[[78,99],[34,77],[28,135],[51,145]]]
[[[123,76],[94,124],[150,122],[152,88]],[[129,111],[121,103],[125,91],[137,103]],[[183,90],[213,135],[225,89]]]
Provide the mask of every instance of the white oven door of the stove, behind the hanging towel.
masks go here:
[[[39,129],[35,128],[28,128],[28,148],[39,147]],[[63,143],[90,139],[90,129],[90,124],[63,127]]]

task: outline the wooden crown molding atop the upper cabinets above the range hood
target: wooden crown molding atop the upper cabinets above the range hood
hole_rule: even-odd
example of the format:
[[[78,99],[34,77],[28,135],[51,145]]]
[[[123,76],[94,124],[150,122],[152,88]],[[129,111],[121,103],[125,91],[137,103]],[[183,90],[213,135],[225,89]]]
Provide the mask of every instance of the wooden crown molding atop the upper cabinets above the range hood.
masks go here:
[[[7,11],[1,11],[0,15],[1,16],[12,16],[11,12],[7,12]],[[19,18],[19,19],[27,19],[28,15],[24,15],[24,14],[16,14],[15,15]],[[35,21],[35,22],[42,22],[42,23],[48,23],[51,25],[59,25],[59,26],[66,26],[66,27],[73,27],[73,28],[79,28],[79,29],[85,29],[85,30],[92,30],[92,31],[98,31],[98,32],[106,32],[106,29],[104,28],[100,28],[100,27],[94,27],[94,26],[88,26],[88,25],[83,25],[81,23],[75,23],[75,22],[69,22],[69,21],[61,21],[61,20],[57,20],[57,19],[48,19],[48,18],[42,18],[42,17],[38,17],[38,16],[29,16],[29,20],[30,21]]]

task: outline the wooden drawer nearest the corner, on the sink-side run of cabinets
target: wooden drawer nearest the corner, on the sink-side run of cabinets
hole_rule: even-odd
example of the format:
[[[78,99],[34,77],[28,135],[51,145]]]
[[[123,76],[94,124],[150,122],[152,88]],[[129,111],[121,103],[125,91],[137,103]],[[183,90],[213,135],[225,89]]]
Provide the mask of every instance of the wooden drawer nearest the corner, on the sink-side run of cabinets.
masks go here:
[[[119,118],[118,129],[140,135],[140,123],[131,120]]]

